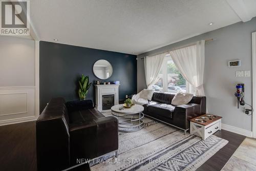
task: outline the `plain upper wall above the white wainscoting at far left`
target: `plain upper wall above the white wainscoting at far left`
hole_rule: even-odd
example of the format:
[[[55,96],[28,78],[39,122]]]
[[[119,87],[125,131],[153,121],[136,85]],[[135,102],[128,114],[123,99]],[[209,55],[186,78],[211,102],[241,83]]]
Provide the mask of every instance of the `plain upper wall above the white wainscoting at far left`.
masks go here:
[[[35,86],[35,41],[0,36],[0,87]]]

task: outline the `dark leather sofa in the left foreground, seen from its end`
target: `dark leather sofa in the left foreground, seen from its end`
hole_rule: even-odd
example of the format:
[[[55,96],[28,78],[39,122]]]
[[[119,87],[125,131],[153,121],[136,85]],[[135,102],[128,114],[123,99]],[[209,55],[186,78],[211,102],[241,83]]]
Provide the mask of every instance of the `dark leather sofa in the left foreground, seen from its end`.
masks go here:
[[[91,100],[53,98],[36,121],[38,170],[63,170],[117,149],[117,119],[103,116]]]

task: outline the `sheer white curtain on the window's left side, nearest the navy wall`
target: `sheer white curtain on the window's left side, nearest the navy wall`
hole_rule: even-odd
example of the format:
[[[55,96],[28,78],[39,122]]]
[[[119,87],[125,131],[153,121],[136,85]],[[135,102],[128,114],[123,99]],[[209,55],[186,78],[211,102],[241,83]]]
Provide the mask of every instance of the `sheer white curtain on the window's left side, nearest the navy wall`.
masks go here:
[[[152,86],[159,80],[159,72],[163,65],[166,53],[144,58],[144,68],[146,76],[147,89],[152,89]]]

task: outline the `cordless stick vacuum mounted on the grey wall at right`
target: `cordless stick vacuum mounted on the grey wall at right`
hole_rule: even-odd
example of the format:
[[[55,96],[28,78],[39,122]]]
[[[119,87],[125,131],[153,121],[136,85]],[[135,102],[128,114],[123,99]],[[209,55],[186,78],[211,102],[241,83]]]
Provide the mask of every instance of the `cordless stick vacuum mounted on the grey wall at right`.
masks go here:
[[[248,104],[248,103],[246,103],[245,101],[244,101],[244,83],[238,83],[237,85],[236,85],[236,93],[234,93],[234,96],[236,96],[237,97],[237,101],[238,101],[238,109],[239,109],[239,106],[240,105],[245,105],[245,104],[247,104],[247,105],[249,105],[250,107],[251,107],[251,109],[246,109],[245,108],[245,114],[247,114],[247,115],[251,115],[252,114],[252,112],[253,112],[253,108],[252,108],[252,106],[250,105],[250,104]]]

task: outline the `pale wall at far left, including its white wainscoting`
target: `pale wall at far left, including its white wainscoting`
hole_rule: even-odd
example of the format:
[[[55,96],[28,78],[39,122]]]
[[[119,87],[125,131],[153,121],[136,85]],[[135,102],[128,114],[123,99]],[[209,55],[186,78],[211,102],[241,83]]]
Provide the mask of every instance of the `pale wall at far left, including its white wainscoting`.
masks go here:
[[[34,119],[35,41],[0,36],[0,125]]]

